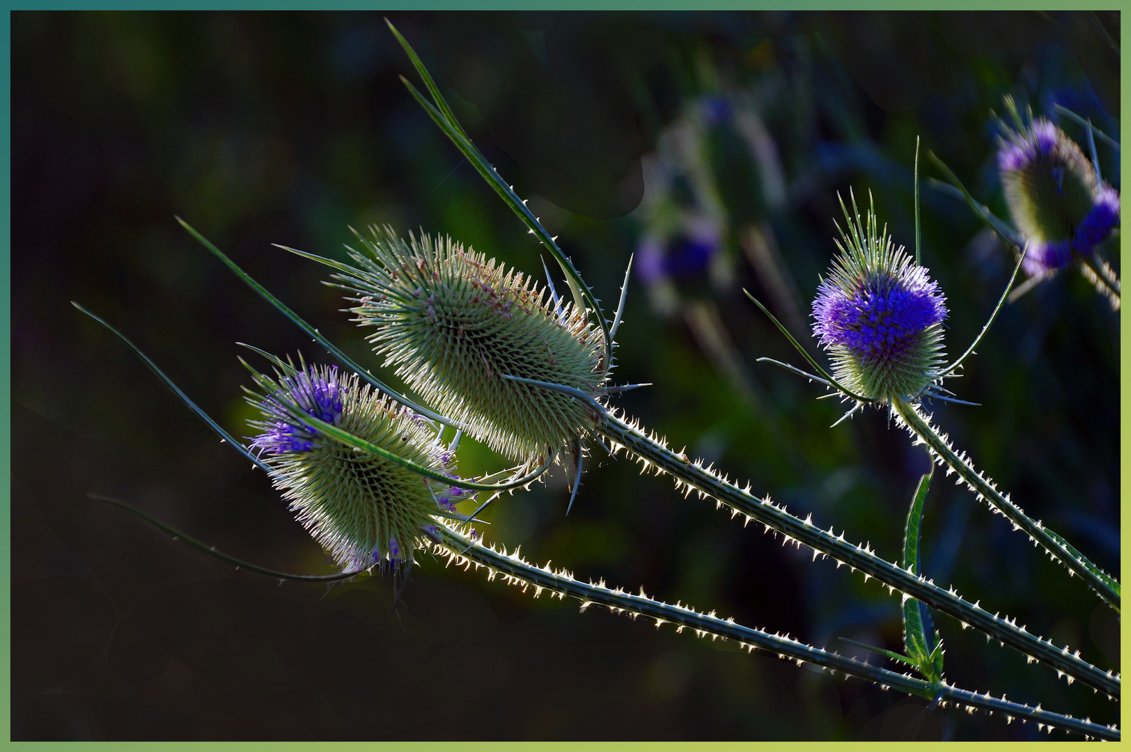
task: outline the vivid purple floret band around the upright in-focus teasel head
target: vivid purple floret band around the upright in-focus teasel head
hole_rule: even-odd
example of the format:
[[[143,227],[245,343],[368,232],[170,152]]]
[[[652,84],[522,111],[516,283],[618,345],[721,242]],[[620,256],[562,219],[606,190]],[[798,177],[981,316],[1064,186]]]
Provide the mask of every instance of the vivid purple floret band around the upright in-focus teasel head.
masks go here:
[[[915,335],[947,318],[939,284],[914,268],[863,279],[848,294],[831,282],[813,301],[813,334],[824,347],[843,345],[864,361],[900,358]]]

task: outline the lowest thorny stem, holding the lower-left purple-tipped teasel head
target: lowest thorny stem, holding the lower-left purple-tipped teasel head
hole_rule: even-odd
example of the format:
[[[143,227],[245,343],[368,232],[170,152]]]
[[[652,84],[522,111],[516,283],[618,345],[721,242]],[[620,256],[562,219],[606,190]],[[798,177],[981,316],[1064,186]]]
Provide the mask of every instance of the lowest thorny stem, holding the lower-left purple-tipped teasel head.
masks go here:
[[[988,693],[978,694],[968,690],[961,690],[946,682],[934,684],[907,674],[880,668],[867,663],[862,663],[854,658],[830,652],[820,648],[800,642],[788,636],[771,634],[763,630],[752,629],[736,624],[733,619],[720,619],[714,613],[701,614],[681,605],[671,605],[662,600],[649,598],[640,590],[640,595],[632,595],[621,588],[610,588],[603,581],[596,585],[580,582],[566,570],[553,570],[549,564],[535,567],[524,561],[516,550],[508,554],[506,550],[497,550],[493,546],[485,546],[480,541],[460,535],[458,531],[443,526],[429,535],[435,544],[440,555],[448,557],[449,563],[474,564],[477,568],[485,567],[489,579],[494,579],[502,574],[512,585],[521,587],[524,590],[534,587],[534,596],[537,597],[543,591],[549,591],[559,597],[566,596],[577,598],[581,602],[581,608],[598,604],[605,606],[613,613],[624,613],[633,619],[647,616],[655,620],[658,629],[664,623],[672,623],[676,631],[693,629],[699,637],[710,636],[711,639],[731,639],[739,642],[739,646],[748,651],[754,648],[777,654],[780,658],[787,658],[802,663],[810,663],[820,666],[830,674],[840,672],[849,676],[858,676],[880,684],[884,689],[893,689],[907,694],[933,700],[940,699],[941,703],[955,703],[966,707],[973,712],[974,709],[988,710],[991,712],[1005,714],[1009,720],[1021,718],[1041,727],[1053,726],[1057,728],[1071,729],[1086,736],[1119,740],[1120,732],[1114,726],[1102,726],[1089,720],[1080,720],[1071,716],[1050,712],[1039,707],[1034,708],[1027,705],[1011,702],[993,698]]]

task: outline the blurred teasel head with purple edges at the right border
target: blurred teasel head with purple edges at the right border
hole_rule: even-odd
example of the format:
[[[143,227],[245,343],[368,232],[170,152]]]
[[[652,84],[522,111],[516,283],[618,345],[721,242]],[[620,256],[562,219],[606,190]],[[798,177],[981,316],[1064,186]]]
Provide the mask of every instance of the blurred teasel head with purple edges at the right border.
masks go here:
[[[998,152],[1010,215],[1029,241],[1025,270],[1042,275],[1090,254],[1120,217],[1120,196],[1080,147],[1044,118],[1005,128]]]

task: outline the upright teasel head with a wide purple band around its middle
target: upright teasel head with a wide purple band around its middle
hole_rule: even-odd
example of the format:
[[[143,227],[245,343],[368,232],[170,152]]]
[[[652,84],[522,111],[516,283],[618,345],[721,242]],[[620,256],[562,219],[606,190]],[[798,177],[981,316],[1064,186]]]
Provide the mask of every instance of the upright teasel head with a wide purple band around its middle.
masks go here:
[[[841,208],[844,205],[841,204]],[[870,210],[845,209],[837,257],[813,301],[813,334],[832,358],[834,375],[853,392],[887,401],[918,395],[941,365],[946,299],[939,283],[903,247],[878,231]]]

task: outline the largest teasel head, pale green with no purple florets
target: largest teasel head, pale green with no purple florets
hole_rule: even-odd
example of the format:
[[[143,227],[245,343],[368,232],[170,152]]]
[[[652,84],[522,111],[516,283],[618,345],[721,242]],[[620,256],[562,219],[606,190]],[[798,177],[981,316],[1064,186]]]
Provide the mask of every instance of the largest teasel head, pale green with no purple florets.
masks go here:
[[[603,392],[601,330],[582,311],[451,239],[372,228],[339,275],[386,364],[467,432],[512,459],[552,459],[588,434],[592,409],[503,374]]]

